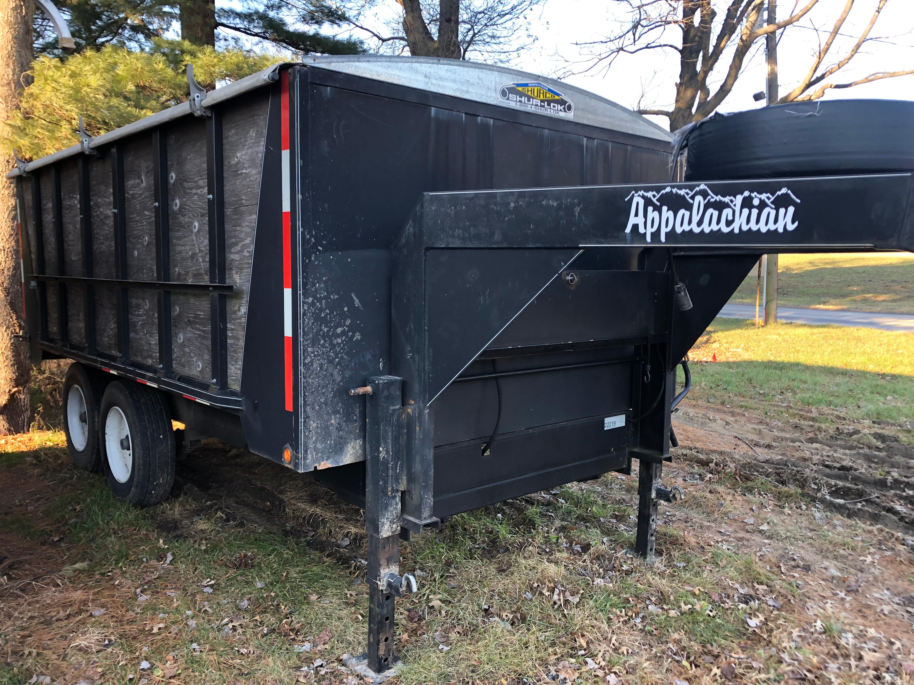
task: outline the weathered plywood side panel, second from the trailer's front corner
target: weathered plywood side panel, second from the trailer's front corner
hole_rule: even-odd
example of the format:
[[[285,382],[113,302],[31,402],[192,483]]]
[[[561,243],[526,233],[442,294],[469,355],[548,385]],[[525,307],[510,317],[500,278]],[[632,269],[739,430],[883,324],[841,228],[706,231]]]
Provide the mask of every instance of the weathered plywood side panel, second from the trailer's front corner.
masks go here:
[[[209,282],[207,124],[182,121],[167,133],[168,228],[172,279]],[[209,383],[212,377],[209,296],[172,293],[172,368]]]

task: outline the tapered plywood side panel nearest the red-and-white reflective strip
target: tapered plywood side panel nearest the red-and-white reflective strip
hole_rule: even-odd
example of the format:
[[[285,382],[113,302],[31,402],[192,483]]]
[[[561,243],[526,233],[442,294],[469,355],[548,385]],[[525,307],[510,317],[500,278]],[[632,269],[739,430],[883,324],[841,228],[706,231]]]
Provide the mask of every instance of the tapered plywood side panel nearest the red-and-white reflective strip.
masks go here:
[[[228,297],[228,387],[239,389],[244,327],[248,318],[250,264],[260,196],[263,146],[267,131],[267,92],[242,100],[222,118],[225,174],[226,282],[235,286]]]

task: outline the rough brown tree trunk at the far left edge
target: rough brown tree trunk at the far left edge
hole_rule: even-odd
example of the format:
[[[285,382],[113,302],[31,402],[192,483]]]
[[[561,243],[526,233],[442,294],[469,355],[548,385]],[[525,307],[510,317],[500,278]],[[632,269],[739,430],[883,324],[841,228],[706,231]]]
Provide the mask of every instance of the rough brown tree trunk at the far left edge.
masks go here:
[[[0,121],[19,106],[23,74],[32,61],[32,0],[0,0]],[[16,184],[5,179],[14,167],[0,154],[0,435],[28,430],[28,343],[13,337],[25,332]]]

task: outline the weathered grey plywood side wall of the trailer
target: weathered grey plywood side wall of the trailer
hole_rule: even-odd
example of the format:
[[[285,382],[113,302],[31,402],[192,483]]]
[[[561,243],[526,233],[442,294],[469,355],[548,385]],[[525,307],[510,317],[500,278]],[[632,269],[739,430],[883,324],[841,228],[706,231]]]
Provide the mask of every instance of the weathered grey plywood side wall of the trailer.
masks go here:
[[[235,289],[226,301],[226,382],[235,390],[240,387],[269,107],[269,89],[264,89],[228,102],[218,112],[222,119],[226,281]],[[166,124],[159,132],[164,136],[165,156],[158,159],[163,167],[156,166],[154,156],[159,153],[159,139],[155,132],[148,132],[101,149],[97,155],[65,159],[28,178],[23,216],[33,248],[32,269],[48,276],[208,283],[212,210],[207,184],[209,121],[186,117]],[[116,168],[122,174],[117,182],[122,184],[122,205],[115,196],[120,193],[114,187]],[[161,168],[161,175],[157,175],[157,168]],[[37,179],[37,191],[33,179]],[[81,182],[86,183],[85,188]],[[33,216],[36,192],[38,216]],[[88,206],[80,205],[82,193],[88,195]],[[163,206],[158,207],[157,202]],[[157,212],[162,223],[157,223]],[[167,254],[160,255],[157,246],[160,231],[165,229]],[[119,230],[125,231],[120,268]],[[87,231],[89,244],[84,246]],[[40,262],[43,269],[39,269]],[[78,282],[48,281],[42,288],[50,342],[80,351],[88,351],[94,342],[102,357],[153,369],[164,368],[164,354],[170,345],[171,371],[204,384],[213,382],[213,296],[207,291],[171,291],[166,303],[160,290],[129,287],[124,290],[126,321],[121,332],[122,290],[117,285],[96,283],[87,290]],[[87,299],[90,291],[94,291],[93,301]],[[88,339],[91,307],[95,312],[94,341]],[[167,307],[167,316],[162,307]],[[165,328],[169,319],[170,332]],[[163,331],[170,337],[165,343],[159,339]],[[129,345],[126,350],[121,349],[124,342]]]

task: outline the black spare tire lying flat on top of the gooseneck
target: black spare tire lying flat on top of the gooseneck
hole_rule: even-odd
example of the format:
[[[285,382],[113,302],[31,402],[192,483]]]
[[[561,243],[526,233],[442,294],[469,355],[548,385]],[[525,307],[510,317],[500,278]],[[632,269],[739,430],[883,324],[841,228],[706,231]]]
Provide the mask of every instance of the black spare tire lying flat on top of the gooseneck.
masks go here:
[[[714,116],[688,137],[686,181],[914,170],[914,102],[816,100]]]

